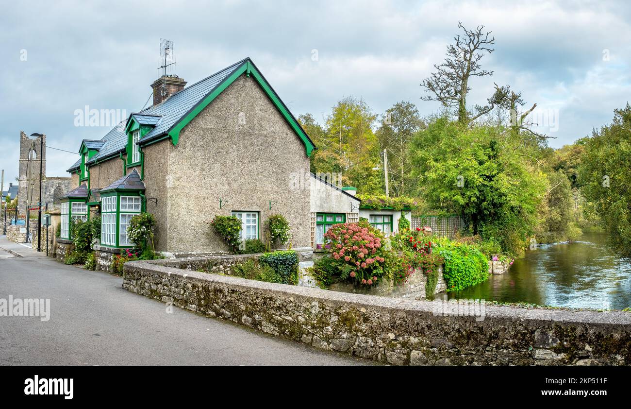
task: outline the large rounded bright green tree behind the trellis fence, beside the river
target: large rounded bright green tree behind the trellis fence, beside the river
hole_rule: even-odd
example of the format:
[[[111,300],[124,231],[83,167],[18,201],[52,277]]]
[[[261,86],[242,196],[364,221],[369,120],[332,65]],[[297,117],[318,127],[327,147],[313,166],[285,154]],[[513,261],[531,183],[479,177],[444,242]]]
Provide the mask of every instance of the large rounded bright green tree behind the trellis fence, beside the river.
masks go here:
[[[431,122],[411,143],[418,196],[463,215],[472,234],[521,252],[540,221],[547,181],[519,139],[502,127]]]

